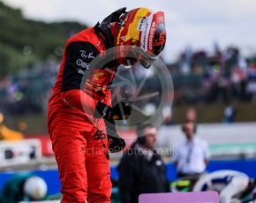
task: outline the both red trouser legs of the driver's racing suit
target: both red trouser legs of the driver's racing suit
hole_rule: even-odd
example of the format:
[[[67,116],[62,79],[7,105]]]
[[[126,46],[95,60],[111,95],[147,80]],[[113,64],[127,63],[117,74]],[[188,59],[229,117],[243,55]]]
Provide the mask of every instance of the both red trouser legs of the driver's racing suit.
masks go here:
[[[49,131],[62,184],[61,202],[84,203],[87,199],[89,203],[109,203],[111,183],[105,154],[108,139],[103,119],[98,124],[102,133],[97,133],[92,122],[80,115],[76,117],[75,110],[65,110],[51,119]]]

